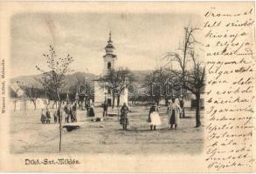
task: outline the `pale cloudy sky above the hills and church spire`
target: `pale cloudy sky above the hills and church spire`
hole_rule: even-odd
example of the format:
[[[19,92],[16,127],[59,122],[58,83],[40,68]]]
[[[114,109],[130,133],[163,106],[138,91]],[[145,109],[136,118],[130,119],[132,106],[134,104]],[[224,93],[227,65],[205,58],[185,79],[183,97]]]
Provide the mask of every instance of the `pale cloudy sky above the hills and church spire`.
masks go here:
[[[116,66],[153,70],[166,52],[183,41],[183,28],[200,26],[195,14],[174,13],[24,13],[11,19],[11,77],[38,74],[42,56],[53,45],[59,57],[70,54],[74,71],[100,75],[111,30]]]

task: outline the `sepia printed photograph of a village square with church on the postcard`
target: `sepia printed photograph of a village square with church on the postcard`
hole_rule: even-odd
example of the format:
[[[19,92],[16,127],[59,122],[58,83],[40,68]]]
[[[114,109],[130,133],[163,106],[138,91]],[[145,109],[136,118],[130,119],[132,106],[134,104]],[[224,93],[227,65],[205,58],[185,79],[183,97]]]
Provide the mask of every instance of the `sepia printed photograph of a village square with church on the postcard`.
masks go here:
[[[12,17],[10,152],[200,153],[201,22],[190,13]]]

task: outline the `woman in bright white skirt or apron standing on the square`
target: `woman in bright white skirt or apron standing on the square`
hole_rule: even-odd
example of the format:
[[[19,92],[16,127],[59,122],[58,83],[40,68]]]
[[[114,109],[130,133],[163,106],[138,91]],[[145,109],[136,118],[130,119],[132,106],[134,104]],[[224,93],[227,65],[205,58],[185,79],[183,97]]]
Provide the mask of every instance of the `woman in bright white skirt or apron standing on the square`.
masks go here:
[[[149,110],[149,119],[148,122],[150,123],[150,130],[156,131],[156,126],[161,125],[161,118],[159,117],[159,111],[157,108],[156,103],[154,103]]]

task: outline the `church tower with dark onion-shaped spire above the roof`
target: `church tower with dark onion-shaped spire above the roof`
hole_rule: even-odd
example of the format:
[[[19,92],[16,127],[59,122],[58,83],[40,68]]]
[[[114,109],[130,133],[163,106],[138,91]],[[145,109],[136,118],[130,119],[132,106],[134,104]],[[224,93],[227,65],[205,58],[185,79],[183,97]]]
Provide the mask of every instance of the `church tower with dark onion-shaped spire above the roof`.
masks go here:
[[[103,56],[104,59],[104,70],[103,75],[109,75],[109,71],[114,69],[114,62],[117,59],[116,55],[114,55],[114,45],[111,40],[111,32],[109,32],[109,38],[107,41],[107,46],[105,47],[106,54]]]

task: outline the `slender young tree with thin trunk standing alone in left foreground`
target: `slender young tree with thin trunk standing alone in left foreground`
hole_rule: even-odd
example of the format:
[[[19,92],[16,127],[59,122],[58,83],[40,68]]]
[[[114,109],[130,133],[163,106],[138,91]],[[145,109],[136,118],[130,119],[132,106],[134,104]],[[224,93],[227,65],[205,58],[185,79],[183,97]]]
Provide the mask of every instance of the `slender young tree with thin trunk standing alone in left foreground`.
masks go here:
[[[50,45],[50,50],[48,54],[43,54],[48,66],[48,70],[43,70],[39,66],[36,66],[37,70],[43,73],[41,79],[38,79],[38,82],[42,84],[45,90],[51,92],[52,95],[58,101],[58,117],[59,117],[59,152],[61,151],[61,121],[62,121],[62,112],[61,112],[61,98],[60,91],[66,85],[65,77],[66,74],[73,71],[69,68],[70,64],[73,63],[73,57],[69,54],[62,58],[57,57],[56,52],[52,45]]]

